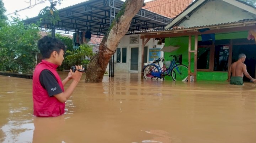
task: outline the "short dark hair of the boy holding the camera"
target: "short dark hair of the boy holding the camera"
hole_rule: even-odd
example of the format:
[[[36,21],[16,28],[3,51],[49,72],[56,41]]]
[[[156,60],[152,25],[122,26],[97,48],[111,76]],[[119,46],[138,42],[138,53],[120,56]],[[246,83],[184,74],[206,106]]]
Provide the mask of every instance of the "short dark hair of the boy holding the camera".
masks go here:
[[[50,36],[44,36],[37,42],[37,46],[42,54],[43,58],[50,58],[53,51],[58,53],[62,49],[65,52],[65,44],[57,38]]]

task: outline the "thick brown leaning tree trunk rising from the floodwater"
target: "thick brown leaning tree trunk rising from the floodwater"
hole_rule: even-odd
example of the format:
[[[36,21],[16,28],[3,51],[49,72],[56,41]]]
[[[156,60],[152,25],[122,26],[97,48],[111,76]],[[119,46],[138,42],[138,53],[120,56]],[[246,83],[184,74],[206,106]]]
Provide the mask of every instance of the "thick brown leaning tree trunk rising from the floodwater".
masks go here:
[[[87,66],[85,82],[102,82],[108,62],[116,52],[120,39],[130,27],[132,18],[144,6],[144,0],[126,0],[104,35],[98,53]]]

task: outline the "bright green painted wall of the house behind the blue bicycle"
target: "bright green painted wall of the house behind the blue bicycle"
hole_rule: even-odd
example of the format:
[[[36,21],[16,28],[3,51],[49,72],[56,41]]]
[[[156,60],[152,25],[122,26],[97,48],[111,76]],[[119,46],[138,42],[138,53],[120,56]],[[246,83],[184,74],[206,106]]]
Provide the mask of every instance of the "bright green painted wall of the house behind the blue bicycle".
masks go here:
[[[234,32],[225,34],[215,34],[216,40],[222,39],[239,39],[247,38],[248,32]],[[201,36],[198,36],[198,41],[201,41]],[[166,61],[170,61],[170,55],[180,55],[182,54],[182,64],[188,65],[188,36],[187,37],[175,37],[175,38],[165,38],[165,46],[169,45],[180,45],[180,48],[174,52],[164,52],[164,58]],[[194,36],[191,38],[191,50],[194,50]],[[191,71],[194,71],[194,54],[191,54]],[[197,71],[198,80],[216,80],[223,81],[228,77],[227,72],[221,71]],[[167,76],[165,79],[172,80],[171,77]]]

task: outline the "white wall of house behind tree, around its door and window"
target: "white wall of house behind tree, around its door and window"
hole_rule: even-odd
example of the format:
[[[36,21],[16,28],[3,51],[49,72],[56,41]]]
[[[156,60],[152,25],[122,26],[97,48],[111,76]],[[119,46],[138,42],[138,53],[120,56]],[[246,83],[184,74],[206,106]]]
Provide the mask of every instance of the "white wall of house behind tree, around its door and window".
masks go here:
[[[130,36],[139,36],[139,43],[138,44],[130,44]],[[154,40],[151,38],[145,46],[149,48],[153,48],[153,45],[156,45],[156,48],[162,48],[164,46],[164,43],[162,45],[157,45],[157,40]],[[142,49],[142,39],[140,39],[139,34],[133,34],[133,35],[125,35],[123,38],[120,40],[120,44],[118,45],[117,48],[122,48],[126,47],[127,48],[127,62],[126,63],[116,63],[116,53],[115,53],[115,72],[129,72],[129,67],[130,67],[130,51],[131,47],[138,47],[139,48],[139,63],[138,63],[138,72],[141,72],[141,49]],[[149,50],[148,50],[149,52]],[[149,53],[148,53],[149,55]],[[161,57],[164,56],[164,52],[161,52]],[[145,57],[144,57],[145,58]]]

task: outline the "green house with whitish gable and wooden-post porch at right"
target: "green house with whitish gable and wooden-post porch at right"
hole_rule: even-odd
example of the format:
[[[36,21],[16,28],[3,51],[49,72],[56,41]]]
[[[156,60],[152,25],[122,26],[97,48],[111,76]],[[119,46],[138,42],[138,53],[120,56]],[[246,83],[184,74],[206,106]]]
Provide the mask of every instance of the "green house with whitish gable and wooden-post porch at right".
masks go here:
[[[247,72],[256,78],[256,7],[246,2],[195,0],[165,29],[134,33],[144,39],[165,38],[167,48],[178,45],[177,50],[164,52],[164,58],[170,61],[170,55],[182,55],[192,77],[188,81],[225,81],[241,53],[246,55]],[[246,76],[243,80],[250,81]]]

